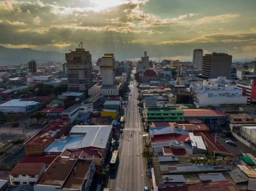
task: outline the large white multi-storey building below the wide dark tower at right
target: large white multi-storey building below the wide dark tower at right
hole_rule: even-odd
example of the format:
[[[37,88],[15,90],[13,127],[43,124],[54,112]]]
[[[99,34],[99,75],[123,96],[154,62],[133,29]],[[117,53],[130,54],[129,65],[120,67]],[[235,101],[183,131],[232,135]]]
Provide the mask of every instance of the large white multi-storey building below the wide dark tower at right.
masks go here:
[[[242,90],[237,89],[235,81],[226,80],[224,76],[219,76],[217,79],[203,80],[203,84],[191,83],[190,91],[193,93],[196,107],[247,103],[247,97],[243,96]]]

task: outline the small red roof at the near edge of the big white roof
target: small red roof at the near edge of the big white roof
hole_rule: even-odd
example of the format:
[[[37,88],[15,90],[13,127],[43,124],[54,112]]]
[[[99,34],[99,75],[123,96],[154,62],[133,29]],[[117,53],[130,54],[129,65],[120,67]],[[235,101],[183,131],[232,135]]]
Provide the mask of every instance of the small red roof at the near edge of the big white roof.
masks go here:
[[[79,158],[99,158],[101,159],[102,157],[98,153],[98,150],[91,150],[88,148],[82,148],[82,149],[65,149],[60,156],[68,157],[69,153],[71,154],[70,157],[73,156],[78,156]]]

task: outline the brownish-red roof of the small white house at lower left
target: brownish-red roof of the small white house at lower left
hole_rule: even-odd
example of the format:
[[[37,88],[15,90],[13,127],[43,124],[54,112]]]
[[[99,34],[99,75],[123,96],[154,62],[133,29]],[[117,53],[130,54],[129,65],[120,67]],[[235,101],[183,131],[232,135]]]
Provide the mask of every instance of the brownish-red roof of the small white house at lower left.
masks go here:
[[[10,175],[38,175],[45,163],[18,163]]]

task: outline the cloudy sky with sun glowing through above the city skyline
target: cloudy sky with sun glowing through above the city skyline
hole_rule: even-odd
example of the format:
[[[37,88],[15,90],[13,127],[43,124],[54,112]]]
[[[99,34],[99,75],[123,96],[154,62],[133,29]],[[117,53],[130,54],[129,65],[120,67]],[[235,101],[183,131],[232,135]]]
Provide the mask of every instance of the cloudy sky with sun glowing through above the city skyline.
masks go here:
[[[191,61],[193,49],[256,57],[256,0],[4,0],[0,45],[92,58]]]

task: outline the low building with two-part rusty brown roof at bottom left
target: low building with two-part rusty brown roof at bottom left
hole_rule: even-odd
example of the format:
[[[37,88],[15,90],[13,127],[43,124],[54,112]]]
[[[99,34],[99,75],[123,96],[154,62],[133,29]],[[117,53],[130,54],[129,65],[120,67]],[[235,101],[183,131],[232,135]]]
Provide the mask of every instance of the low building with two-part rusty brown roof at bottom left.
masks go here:
[[[34,185],[34,191],[88,191],[94,173],[93,160],[58,156]]]

